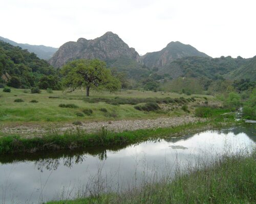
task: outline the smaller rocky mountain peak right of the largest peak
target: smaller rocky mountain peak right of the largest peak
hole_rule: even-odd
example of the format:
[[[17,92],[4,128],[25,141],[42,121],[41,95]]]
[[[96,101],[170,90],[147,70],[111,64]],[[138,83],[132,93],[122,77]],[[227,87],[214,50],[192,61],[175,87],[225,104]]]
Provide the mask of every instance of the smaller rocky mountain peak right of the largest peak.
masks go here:
[[[209,57],[208,55],[199,52],[195,47],[191,45],[186,45],[176,41],[170,42],[165,48],[158,52],[145,54],[141,57],[141,60],[147,67],[161,68],[176,59],[190,56]]]

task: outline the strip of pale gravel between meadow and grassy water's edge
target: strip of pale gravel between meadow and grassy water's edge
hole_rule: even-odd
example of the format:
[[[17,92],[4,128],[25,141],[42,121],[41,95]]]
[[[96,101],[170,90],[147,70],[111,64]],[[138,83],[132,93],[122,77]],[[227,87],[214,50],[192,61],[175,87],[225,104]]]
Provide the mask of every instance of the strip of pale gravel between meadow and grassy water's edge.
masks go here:
[[[80,125],[72,123],[65,123],[61,126],[56,124],[49,124],[42,127],[39,125],[18,125],[15,127],[2,126],[0,132],[4,134],[18,134],[24,137],[40,137],[49,131],[58,131],[63,133],[67,130],[76,129],[80,127],[88,133],[97,132],[101,127],[106,127],[109,131],[122,132],[133,131],[138,129],[152,129],[156,127],[170,127],[177,126],[189,122],[204,121],[202,118],[182,116],[182,117],[161,117],[156,119],[136,119],[136,120],[117,120],[117,121],[99,121],[99,122],[81,122]]]

